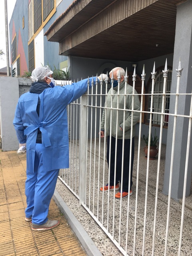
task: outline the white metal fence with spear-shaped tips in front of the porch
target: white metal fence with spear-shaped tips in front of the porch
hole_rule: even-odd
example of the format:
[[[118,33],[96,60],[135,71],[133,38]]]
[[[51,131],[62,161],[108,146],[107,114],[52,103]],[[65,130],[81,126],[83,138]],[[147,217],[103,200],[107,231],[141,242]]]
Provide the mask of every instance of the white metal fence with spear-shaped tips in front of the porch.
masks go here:
[[[144,80],[142,73],[142,93],[140,107],[140,122],[138,123],[138,136],[135,139],[135,155],[133,170],[133,194],[127,198],[117,200],[116,191],[100,191],[100,187],[109,183],[108,164],[106,162],[106,138],[100,138],[100,124],[104,102],[106,101],[107,82],[96,83],[96,86],[88,90],[81,99],[68,106],[68,122],[70,127],[70,168],[60,170],[59,178],[75,194],[80,204],[94,218],[97,224],[104,230],[108,237],[119,248],[123,255],[190,255],[192,244],[191,216],[185,218],[185,190],[188,169],[188,158],[190,152],[190,132],[192,103],[189,106],[190,115],[177,114],[180,76],[182,68],[177,70],[177,86],[175,112],[173,114],[164,112],[165,100],[170,97],[166,93],[167,66],[163,71],[162,109],[155,112],[160,120],[160,134],[158,143],[158,157],[155,161],[146,159],[143,154],[144,141],[142,134],[142,113],[146,113],[149,121],[149,134],[152,132],[152,115],[154,114],[153,97],[154,83],[156,79],[155,65],[152,71],[152,90],[150,93],[150,111],[143,111]],[[133,88],[135,84],[135,71],[133,75]],[[118,80],[120,82],[120,79]],[[125,81],[126,75],[125,75]],[[125,82],[125,86],[126,86]],[[192,94],[189,94],[190,97]],[[111,95],[113,97],[113,95]],[[134,94],[132,95],[134,98]],[[120,111],[134,111],[126,108],[116,109]],[[172,157],[170,159],[170,186],[169,195],[162,194],[164,179],[164,165],[166,146],[162,144],[162,130],[164,116],[174,116],[174,131],[172,137]],[[186,166],[184,178],[184,190],[182,211],[174,210],[174,201],[171,200],[171,182],[173,174],[173,154],[175,145],[175,128],[177,117],[187,117],[188,142],[186,152]],[[113,117],[112,117],[113,118]],[[132,128],[131,128],[132,130]],[[149,150],[148,150],[149,156]],[[129,184],[130,187],[130,184]],[[177,207],[177,206],[176,206]],[[175,220],[180,222],[175,226]],[[178,223],[178,222],[177,222]],[[187,232],[187,234],[186,234]],[[190,233],[190,234],[189,234]]]

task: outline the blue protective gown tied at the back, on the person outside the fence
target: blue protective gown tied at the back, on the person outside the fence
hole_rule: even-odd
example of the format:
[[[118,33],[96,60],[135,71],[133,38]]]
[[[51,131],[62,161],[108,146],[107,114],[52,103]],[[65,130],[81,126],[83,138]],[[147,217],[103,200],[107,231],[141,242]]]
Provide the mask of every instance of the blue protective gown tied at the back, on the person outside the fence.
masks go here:
[[[90,80],[90,87],[92,78]],[[96,77],[93,78],[94,84]],[[69,168],[69,139],[66,107],[87,91],[88,79],[66,86],[47,88],[42,93],[22,94],[14,117],[19,143],[26,143],[27,170],[34,171],[38,128],[42,132],[43,165],[47,171]],[[36,112],[40,98],[40,114]]]

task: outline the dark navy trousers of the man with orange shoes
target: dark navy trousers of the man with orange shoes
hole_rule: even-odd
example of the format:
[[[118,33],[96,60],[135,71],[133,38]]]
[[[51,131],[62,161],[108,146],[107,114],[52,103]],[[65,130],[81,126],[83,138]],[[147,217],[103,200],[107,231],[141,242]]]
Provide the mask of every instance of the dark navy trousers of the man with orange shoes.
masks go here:
[[[110,150],[110,136],[107,137],[107,162],[108,167],[110,168],[110,186],[114,186],[114,178],[115,184],[120,182],[122,186],[122,191],[128,192],[129,185],[129,162],[130,162],[130,139],[124,140],[124,159],[123,159],[123,182],[121,182],[121,174],[122,174],[122,145],[123,140],[117,139],[117,154],[116,154],[116,177],[114,177],[115,173],[115,144],[116,138],[111,137],[111,152]],[[134,138],[132,138],[132,149],[131,149],[131,168],[130,168],[130,190],[132,187],[132,173],[133,173],[133,160],[134,160]],[[111,154],[111,156],[110,156]],[[109,156],[110,165],[109,165]],[[122,184],[123,183],[123,184]]]

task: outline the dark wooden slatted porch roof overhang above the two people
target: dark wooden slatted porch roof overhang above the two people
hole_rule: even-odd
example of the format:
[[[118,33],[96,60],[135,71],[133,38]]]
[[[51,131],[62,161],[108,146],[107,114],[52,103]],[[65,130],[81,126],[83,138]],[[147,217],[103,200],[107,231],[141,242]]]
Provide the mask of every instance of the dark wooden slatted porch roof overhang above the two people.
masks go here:
[[[153,3],[140,6],[140,9],[135,6],[138,11],[130,12],[130,15],[124,15],[123,5],[120,9],[119,5],[125,2],[123,0],[76,0],[72,7],[77,8],[80,2],[89,4],[81,10],[76,9],[77,13],[73,16],[70,15],[74,14],[74,10],[70,8],[45,34],[49,41],[60,43],[61,55],[136,62],[174,52],[176,4],[181,1],[144,1]],[[114,19],[116,14],[110,12],[117,7],[122,11],[120,16],[125,18],[117,22],[113,20],[114,24],[110,20],[110,26],[106,28],[105,17],[113,15]],[[66,20],[68,15],[71,18]]]

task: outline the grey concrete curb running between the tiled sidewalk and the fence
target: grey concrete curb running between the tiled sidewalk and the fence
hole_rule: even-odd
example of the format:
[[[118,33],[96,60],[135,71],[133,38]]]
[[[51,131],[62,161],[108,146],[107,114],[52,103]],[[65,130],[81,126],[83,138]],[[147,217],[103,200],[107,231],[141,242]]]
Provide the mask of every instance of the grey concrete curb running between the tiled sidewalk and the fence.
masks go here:
[[[78,240],[82,244],[88,256],[102,256],[100,250],[96,247],[88,233],[84,230],[83,226],[68,208],[59,192],[55,189],[53,200],[56,202],[60,211],[64,214],[68,224],[71,226],[73,232],[76,234]]]

